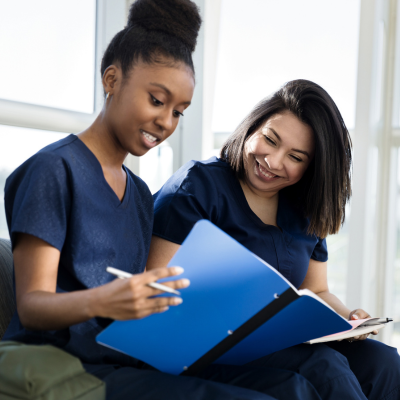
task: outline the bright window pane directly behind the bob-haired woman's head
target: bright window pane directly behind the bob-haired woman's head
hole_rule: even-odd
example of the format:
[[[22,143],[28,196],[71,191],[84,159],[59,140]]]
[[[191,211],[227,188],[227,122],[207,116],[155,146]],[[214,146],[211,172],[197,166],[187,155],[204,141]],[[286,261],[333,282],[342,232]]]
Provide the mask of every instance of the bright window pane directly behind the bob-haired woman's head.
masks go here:
[[[360,0],[222,0],[213,131],[293,79],[321,85],[353,128],[359,13]]]

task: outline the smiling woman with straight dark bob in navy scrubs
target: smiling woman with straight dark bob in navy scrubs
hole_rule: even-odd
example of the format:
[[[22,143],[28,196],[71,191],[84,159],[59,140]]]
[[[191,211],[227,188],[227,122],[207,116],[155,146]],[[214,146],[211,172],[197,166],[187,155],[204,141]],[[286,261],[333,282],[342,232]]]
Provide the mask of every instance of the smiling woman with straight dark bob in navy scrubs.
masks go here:
[[[351,163],[349,132],[329,94],[307,80],[286,83],[256,105],[220,158],[187,163],[154,195],[148,270],[166,266],[208,219],[344,318],[369,317],[348,309],[327,282],[325,238],[345,220]],[[295,371],[324,400],[399,399],[396,349],[366,338],[301,344],[247,366]]]

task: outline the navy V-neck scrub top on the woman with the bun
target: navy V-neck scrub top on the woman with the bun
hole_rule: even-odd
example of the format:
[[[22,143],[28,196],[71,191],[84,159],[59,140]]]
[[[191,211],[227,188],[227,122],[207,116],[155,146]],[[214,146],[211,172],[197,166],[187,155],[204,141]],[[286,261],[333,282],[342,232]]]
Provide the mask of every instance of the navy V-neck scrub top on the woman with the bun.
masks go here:
[[[107,266],[143,272],[153,226],[147,185],[125,167],[122,202],[94,154],[75,135],[32,156],[7,179],[5,208],[13,248],[18,233],[36,236],[61,252],[57,292],[94,288],[115,279]],[[86,363],[136,361],[100,346],[95,336],[110,320],[93,318],[59,331],[28,331],[15,313],[4,340],[51,343]]]

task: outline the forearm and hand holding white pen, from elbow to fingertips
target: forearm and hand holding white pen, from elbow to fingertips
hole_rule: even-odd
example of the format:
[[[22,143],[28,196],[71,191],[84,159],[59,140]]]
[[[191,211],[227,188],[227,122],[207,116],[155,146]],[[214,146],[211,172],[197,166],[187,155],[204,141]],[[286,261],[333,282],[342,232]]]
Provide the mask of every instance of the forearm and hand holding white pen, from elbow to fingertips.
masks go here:
[[[116,320],[141,319],[182,303],[180,297],[158,297],[163,292],[150,282],[175,277],[182,268],[158,268],[129,279],[114,279],[93,289],[69,293],[31,291],[17,297],[22,325],[31,330],[58,330],[93,317]],[[189,286],[187,279],[164,282],[172,289]]]

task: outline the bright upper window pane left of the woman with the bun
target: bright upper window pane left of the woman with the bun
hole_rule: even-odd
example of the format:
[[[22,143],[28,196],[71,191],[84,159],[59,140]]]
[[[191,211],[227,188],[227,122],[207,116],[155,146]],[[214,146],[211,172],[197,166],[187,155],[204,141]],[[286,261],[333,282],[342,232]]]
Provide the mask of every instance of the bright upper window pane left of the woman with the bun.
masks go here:
[[[0,98],[92,113],[96,1],[3,1],[0,14]]]

